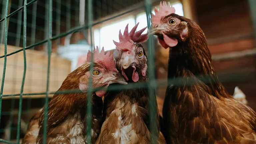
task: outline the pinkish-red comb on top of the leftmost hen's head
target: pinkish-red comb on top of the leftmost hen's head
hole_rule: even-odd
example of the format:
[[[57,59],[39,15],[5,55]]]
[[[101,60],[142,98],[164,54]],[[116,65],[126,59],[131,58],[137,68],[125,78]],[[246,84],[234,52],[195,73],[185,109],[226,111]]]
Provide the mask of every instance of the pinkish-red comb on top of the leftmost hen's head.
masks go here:
[[[90,62],[91,57],[92,57],[92,52],[90,52],[89,50],[87,53],[87,61]],[[104,47],[102,47],[101,52],[99,52],[99,48],[97,46],[97,49],[95,50],[95,47],[94,47],[94,50],[93,50],[93,62],[99,62],[99,61],[110,62],[110,61],[114,61],[114,59],[113,59],[113,56],[110,56],[109,51],[105,54]]]

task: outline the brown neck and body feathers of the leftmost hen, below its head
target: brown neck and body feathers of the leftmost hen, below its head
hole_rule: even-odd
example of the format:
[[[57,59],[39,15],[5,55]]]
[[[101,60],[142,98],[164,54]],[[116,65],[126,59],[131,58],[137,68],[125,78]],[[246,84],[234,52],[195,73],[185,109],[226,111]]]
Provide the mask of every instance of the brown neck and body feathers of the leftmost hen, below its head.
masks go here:
[[[95,63],[95,65],[97,65]],[[63,90],[78,90],[79,79],[83,78],[85,72],[89,70],[90,63],[87,62],[71,72],[63,81],[60,89]],[[47,113],[47,143],[86,143],[86,93],[69,93],[69,94],[54,94],[48,104]],[[95,143],[100,132],[102,124],[102,98],[92,95],[92,137],[91,140]],[[44,125],[45,108],[40,115],[39,120],[39,135],[37,142],[43,142],[43,125]]]

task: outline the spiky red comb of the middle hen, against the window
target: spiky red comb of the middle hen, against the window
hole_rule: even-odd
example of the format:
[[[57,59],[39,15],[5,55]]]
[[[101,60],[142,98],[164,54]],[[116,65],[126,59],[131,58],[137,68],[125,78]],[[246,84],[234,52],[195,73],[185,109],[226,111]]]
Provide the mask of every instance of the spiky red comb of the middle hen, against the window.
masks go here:
[[[127,24],[124,29],[124,35],[122,35],[121,30],[119,31],[119,43],[113,40],[113,42],[116,45],[116,48],[118,50],[131,50],[133,43],[144,42],[144,41],[148,40],[148,34],[141,35],[147,27],[135,32],[139,25],[139,23],[137,23],[132,28],[130,33],[128,33],[128,25],[129,24]]]

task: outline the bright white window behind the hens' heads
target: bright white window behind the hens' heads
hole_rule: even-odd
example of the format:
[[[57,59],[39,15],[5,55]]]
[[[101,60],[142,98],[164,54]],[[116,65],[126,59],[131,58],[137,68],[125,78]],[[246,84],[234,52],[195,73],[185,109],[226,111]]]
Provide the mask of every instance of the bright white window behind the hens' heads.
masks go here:
[[[172,5],[175,8],[175,13],[184,16],[183,8],[181,3],[177,3]],[[159,8],[159,6],[157,6]],[[152,10],[153,14],[155,14],[154,10]],[[136,17],[136,18],[135,18]],[[136,21],[135,21],[136,20]],[[126,19],[122,19],[121,21],[106,25],[101,27],[100,29],[94,30],[94,45],[99,46],[99,49],[104,46],[105,51],[115,49],[116,46],[113,43],[113,40],[119,42],[118,34],[121,29],[121,33],[123,34],[125,26],[129,23],[129,32],[135,26],[136,23],[140,22],[138,25],[138,30],[147,26],[147,16],[146,13],[140,13],[135,16],[128,16]],[[147,29],[143,32],[145,34]]]

